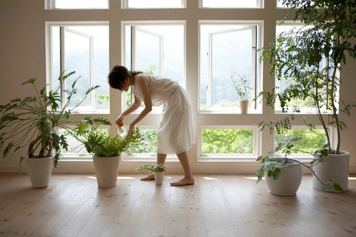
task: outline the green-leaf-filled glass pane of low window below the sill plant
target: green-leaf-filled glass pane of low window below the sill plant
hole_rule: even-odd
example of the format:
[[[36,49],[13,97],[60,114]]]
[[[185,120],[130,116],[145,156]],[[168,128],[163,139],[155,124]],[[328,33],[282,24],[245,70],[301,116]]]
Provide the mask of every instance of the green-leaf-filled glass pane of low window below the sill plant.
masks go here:
[[[202,154],[253,154],[253,129],[202,129]]]

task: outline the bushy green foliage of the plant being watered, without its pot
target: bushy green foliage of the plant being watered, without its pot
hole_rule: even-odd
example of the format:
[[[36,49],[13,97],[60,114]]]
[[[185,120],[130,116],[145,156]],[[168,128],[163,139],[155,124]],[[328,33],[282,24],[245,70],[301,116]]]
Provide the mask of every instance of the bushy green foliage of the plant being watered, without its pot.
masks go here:
[[[116,157],[122,152],[129,152],[130,146],[139,146],[141,133],[138,128],[134,134],[122,140],[116,135],[111,136],[98,127],[111,125],[110,121],[103,118],[84,118],[75,128],[76,137],[84,144],[87,152],[95,157]]]

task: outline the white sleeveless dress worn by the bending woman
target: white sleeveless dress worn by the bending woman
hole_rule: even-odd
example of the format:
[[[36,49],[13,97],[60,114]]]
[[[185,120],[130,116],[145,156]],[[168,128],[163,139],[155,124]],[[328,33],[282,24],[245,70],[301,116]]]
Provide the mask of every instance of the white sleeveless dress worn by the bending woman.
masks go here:
[[[137,79],[147,79],[152,106],[161,106],[162,117],[157,129],[157,153],[179,154],[189,150],[195,143],[190,100],[177,81],[148,73],[136,74],[133,93],[143,101]]]

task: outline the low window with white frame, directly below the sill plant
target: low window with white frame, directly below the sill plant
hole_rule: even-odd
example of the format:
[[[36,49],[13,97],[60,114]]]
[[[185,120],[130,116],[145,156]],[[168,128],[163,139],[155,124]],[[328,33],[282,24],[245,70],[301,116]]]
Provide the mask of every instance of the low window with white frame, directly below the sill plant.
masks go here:
[[[202,127],[200,129],[200,160],[255,158],[256,128]]]

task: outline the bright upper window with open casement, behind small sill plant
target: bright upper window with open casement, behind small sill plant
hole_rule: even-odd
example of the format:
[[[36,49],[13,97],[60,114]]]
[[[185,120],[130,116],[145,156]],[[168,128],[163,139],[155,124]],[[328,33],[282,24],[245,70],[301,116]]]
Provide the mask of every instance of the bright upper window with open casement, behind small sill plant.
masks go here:
[[[200,25],[201,111],[239,111],[237,101],[240,98],[231,77],[247,79],[255,88],[249,91],[250,98],[256,96],[259,65],[253,47],[259,47],[259,28],[257,24]],[[255,104],[250,103],[250,109],[255,108]]]

